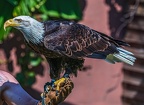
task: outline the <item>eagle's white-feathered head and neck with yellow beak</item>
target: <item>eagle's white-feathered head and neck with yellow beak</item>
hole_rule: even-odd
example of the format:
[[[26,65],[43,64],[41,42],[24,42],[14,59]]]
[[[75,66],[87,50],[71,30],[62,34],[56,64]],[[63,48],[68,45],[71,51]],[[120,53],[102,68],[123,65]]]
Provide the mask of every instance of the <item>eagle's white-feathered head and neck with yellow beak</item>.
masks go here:
[[[9,19],[4,23],[4,29],[10,26],[20,30],[27,42],[31,41],[36,44],[43,38],[43,23],[31,18],[30,16],[17,16],[13,19]]]

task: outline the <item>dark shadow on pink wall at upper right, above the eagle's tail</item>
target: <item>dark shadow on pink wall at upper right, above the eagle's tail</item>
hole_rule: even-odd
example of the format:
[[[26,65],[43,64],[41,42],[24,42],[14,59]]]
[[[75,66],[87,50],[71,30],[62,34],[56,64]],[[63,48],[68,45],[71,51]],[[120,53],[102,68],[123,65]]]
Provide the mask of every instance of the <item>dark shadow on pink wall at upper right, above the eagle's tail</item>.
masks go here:
[[[116,39],[123,39],[126,27],[123,25],[122,18],[128,10],[127,0],[105,0],[105,3],[110,7],[108,16],[111,36]]]

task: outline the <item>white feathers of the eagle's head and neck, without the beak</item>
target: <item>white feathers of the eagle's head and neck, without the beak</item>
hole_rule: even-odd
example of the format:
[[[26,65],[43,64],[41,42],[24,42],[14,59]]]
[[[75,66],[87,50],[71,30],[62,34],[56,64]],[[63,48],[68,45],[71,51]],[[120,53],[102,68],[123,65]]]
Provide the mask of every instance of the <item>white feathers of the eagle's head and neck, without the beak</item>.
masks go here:
[[[22,26],[16,27],[19,29],[28,43],[40,44],[44,35],[44,24],[30,18],[29,16],[18,16],[15,19],[22,19]]]

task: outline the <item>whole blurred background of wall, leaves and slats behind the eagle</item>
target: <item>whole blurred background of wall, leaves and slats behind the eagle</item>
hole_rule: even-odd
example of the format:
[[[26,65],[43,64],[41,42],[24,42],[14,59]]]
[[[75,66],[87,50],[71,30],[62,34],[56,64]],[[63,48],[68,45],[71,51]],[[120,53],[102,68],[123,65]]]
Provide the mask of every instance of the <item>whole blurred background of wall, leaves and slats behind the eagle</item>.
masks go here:
[[[45,58],[29,49],[18,30],[3,24],[18,15],[39,21],[65,19],[128,42],[134,66],[86,59],[72,77],[74,89],[60,105],[144,105],[144,0],[0,0],[0,70],[10,72],[40,100],[50,80]]]

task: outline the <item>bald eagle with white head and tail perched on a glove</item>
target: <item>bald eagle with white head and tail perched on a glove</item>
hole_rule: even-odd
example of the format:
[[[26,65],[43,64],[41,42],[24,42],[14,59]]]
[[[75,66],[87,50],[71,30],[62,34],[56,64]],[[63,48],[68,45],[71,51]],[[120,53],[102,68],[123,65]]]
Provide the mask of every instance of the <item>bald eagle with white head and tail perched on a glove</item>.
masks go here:
[[[7,20],[4,29],[9,26],[20,30],[28,46],[46,57],[50,65],[50,77],[54,80],[60,79],[63,70],[65,75],[77,75],[77,70],[83,67],[84,58],[130,65],[136,59],[133,53],[122,48],[128,46],[126,42],[75,22],[39,22],[29,16],[18,16]]]

